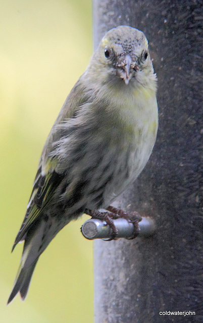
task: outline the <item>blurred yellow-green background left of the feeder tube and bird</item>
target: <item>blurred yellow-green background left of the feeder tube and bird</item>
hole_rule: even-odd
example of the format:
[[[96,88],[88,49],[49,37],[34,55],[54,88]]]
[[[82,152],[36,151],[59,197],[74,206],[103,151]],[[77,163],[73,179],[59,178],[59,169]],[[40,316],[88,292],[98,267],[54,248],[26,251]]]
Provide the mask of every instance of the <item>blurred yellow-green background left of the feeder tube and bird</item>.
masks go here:
[[[92,53],[91,0],[0,0],[0,321],[93,322],[92,243],[69,224],[37,263],[28,297],[7,299],[39,156],[66,96]]]

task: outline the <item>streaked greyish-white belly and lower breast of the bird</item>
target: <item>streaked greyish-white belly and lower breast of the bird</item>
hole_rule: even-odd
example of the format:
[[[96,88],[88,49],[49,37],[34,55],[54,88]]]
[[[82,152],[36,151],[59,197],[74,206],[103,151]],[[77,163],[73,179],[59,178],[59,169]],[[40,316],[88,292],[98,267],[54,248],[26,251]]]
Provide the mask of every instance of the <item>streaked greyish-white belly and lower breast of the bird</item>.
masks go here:
[[[74,167],[60,195],[68,217],[85,208],[107,207],[141,173],[157,135],[156,97],[148,106],[147,111],[137,107],[131,114],[123,108],[120,120],[105,116],[97,128],[89,125],[88,142],[82,131],[77,133],[74,140],[82,153],[76,160],[74,150],[69,150],[67,160]]]

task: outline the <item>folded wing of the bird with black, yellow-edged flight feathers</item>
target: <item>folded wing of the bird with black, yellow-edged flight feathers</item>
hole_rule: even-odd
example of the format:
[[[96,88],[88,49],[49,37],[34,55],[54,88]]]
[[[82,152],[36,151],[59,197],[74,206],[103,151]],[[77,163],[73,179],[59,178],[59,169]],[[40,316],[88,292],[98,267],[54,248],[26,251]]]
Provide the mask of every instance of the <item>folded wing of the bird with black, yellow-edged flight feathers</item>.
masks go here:
[[[76,112],[86,101],[87,97],[82,95],[82,86],[79,79],[67,97],[62,110],[49,133],[46,144],[44,145],[38,171],[33,183],[32,193],[27,206],[27,212],[14,242],[12,251],[18,242],[24,240],[28,229],[43,214],[44,208],[50,199],[52,199],[56,188],[65,176],[64,172],[59,171],[60,160],[52,153],[54,149],[53,143],[63,136],[59,124],[63,124],[64,120],[71,120],[71,118],[75,117]]]

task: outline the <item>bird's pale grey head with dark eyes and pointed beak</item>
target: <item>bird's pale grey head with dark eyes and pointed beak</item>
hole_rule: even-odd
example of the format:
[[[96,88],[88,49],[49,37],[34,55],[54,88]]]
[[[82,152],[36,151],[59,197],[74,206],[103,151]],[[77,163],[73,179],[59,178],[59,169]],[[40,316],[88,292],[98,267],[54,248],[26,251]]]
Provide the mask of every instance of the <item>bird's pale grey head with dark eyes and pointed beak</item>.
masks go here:
[[[97,70],[104,78],[106,73],[108,81],[115,81],[116,76],[119,82],[122,80],[127,85],[140,72],[144,75],[154,73],[145,35],[129,26],[109,30],[100,41],[95,58]]]

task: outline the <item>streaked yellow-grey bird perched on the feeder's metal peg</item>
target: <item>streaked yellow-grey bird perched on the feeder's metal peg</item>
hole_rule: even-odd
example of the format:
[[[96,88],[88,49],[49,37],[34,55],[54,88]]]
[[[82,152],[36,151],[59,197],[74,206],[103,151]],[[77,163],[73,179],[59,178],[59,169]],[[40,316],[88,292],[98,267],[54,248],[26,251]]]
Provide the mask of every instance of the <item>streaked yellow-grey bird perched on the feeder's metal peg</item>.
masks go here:
[[[94,216],[107,210],[141,173],[157,137],[156,93],[144,33],[122,25],[109,30],[42,150],[12,249],[24,241],[8,304],[18,293],[26,298],[39,256],[64,226],[85,211]]]

